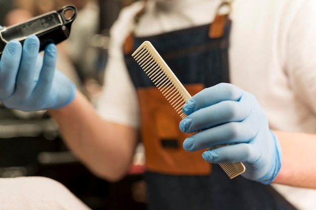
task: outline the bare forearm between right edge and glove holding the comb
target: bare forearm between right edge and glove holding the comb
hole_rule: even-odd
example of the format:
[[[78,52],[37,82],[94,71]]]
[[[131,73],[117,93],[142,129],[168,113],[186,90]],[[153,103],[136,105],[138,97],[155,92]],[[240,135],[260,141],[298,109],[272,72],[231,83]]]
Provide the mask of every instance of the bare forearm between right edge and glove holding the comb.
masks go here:
[[[283,153],[273,183],[316,189],[316,134],[274,131]]]

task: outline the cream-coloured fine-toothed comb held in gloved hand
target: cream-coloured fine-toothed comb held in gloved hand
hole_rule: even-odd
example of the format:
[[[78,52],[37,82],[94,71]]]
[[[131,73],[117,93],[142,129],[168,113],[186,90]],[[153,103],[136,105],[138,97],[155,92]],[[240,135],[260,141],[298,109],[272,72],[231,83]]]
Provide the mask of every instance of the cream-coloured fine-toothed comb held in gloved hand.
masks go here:
[[[191,98],[191,95],[152,44],[149,41],[144,41],[134,51],[132,57],[144,70],[153,84],[167,98],[180,117],[182,119],[185,118],[186,115],[183,114],[182,108],[185,102]],[[215,149],[226,145],[213,146],[207,149]],[[245,166],[242,163],[224,163],[219,165],[231,179],[245,171]]]

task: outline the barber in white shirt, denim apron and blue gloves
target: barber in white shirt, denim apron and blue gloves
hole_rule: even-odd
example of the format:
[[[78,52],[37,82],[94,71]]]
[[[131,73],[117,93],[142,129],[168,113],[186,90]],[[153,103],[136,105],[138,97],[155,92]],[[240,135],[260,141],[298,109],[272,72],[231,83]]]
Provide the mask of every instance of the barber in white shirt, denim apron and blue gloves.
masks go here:
[[[229,16],[219,12],[222,3],[230,6]],[[55,72],[54,44],[36,64],[37,48],[28,50],[38,47],[34,36],[23,48],[16,41],[7,44],[0,98],[8,108],[48,109],[78,158],[109,181],[127,173],[140,134],[149,209],[313,209],[315,166],[306,163],[316,146],[315,10],[316,3],[307,0],[139,1],[123,9],[111,29],[97,112]],[[172,108],[153,110],[154,118],[146,121],[152,114],[146,104],[159,101],[159,92],[130,58],[144,40],[162,52],[181,82],[206,87],[187,86],[196,94],[179,125],[185,133],[203,131],[175,133],[180,119]],[[35,84],[34,69],[41,70]],[[192,152],[181,148],[185,138],[183,147]],[[180,161],[174,153],[181,153]],[[246,171],[229,180],[201,155],[210,163],[242,162]]]

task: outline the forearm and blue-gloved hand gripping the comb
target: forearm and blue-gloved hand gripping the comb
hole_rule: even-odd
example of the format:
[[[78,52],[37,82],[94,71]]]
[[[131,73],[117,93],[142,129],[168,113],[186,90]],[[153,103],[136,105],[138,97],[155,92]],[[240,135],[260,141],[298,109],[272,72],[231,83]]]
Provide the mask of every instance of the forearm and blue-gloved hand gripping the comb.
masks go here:
[[[272,131],[255,97],[232,84],[205,88],[183,107],[183,132],[196,132],[183,142],[203,152],[210,163],[242,162],[241,176],[264,184],[279,183],[316,189],[316,134]]]

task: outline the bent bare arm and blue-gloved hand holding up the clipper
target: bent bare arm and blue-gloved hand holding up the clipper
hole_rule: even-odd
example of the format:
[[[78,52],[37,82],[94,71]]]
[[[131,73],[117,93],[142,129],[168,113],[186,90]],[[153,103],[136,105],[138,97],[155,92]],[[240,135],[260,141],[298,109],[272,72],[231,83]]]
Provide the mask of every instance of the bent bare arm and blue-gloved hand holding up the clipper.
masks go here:
[[[9,109],[49,110],[66,143],[97,176],[109,181],[126,172],[136,144],[131,127],[103,121],[75,85],[56,69],[57,49],[38,55],[39,39],[7,43],[0,60],[0,100]]]

